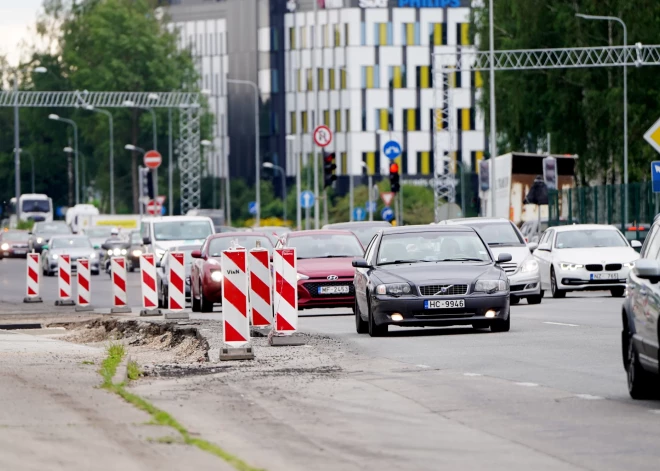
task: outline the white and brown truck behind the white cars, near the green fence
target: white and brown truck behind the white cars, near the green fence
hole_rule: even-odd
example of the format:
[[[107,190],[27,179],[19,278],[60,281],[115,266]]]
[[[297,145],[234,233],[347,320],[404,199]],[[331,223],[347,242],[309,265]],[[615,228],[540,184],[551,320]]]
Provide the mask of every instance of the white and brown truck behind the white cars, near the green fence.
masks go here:
[[[540,208],[534,204],[524,204],[534,179],[543,175],[543,159],[547,154],[529,154],[509,152],[495,159],[486,161],[486,169],[492,175],[493,160],[495,161],[495,208],[491,204],[493,191],[492,177],[490,188],[480,191],[482,213],[486,217],[505,218],[520,226],[527,221],[548,219],[548,206]],[[557,159],[557,190],[575,187],[575,170],[578,156],[574,154],[552,154]],[[559,202],[560,206],[562,202]],[[561,211],[560,211],[561,214]]]

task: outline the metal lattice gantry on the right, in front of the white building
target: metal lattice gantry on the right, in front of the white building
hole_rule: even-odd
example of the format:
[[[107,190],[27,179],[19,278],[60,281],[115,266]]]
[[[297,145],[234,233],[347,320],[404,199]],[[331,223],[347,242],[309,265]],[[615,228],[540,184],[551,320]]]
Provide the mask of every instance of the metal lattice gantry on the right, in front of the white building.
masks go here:
[[[631,46],[495,51],[493,56],[493,66],[497,71],[657,65],[660,65],[660,45],[647,46],[640,43]],[[451,153],[458,150],[452,138],[457,133],[458,119],[456,110],[452,106],[451,77],[461,72],[490,70],[490,66],[489,52],[477,51],[472,47],[457,47],[453,52],[433,55],[432,78],[436,106],[433,113],[436,220],[440,200],[453,203],[456,197],[456,177]],[[448,133],[444,146],[440,139],[443,131]]]

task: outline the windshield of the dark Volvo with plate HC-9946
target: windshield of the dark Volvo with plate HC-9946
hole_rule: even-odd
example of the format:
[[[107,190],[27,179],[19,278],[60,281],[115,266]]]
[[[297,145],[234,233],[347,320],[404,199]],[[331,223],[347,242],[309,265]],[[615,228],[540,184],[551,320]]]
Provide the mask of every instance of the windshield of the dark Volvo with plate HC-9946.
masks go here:
[[[474,232],[409,232],[385,234],[378,265],[417,262],[490,262],[488,249]]]

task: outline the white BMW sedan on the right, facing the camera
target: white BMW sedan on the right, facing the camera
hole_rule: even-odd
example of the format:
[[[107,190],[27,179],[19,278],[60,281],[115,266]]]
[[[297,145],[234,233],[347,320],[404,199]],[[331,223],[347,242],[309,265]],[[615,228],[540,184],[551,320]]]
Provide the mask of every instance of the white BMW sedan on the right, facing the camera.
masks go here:
[[[576,224],[548,228],[534,256],[539,262],[541,289],[553,298],[569,291],[609,290],[614,297],[625,293],[626,279],[639,254],[612,226]]]

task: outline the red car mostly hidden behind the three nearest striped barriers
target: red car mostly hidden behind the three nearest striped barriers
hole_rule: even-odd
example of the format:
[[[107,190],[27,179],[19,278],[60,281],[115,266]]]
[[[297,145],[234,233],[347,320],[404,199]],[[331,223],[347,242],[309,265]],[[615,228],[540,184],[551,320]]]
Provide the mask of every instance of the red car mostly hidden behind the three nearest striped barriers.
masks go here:
[[[220,257],[223,250],[231,247],[232,241],[250,250],[261,243],[271,256],[273,243],[261,232],[221,232],[209,236],[201,250],[192,252],[194,259],[190,270],[190,290],[193,312],[212,312],[214,304],[222,303],[222,270]]]

